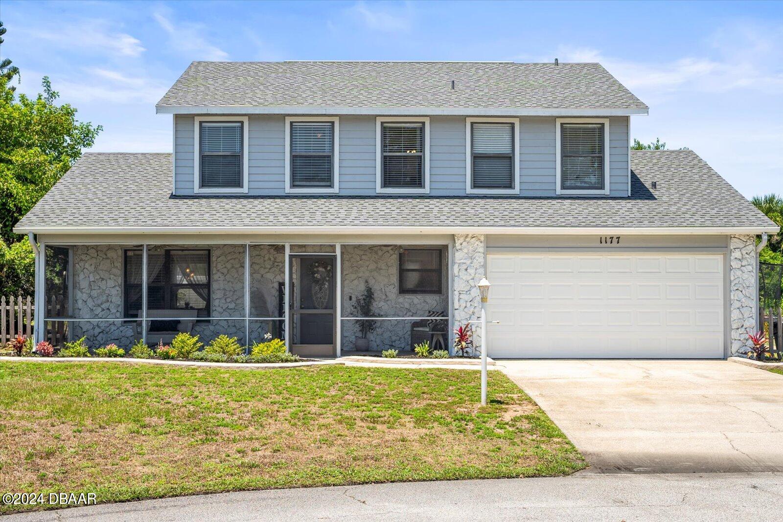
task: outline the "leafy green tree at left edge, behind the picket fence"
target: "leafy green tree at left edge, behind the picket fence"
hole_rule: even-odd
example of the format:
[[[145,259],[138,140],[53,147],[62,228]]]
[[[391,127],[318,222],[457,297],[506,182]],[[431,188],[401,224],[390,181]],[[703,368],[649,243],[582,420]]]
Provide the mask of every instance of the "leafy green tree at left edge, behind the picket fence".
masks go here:
[[[0,37],[5,27],[0,23]],[[0,45],[3,39],[0,38]],[[33,207],[92,146],[103,127],[76,120],[76,109],[52,90],[49,77],[35,98],[16,95],[19,69],[0,61],[0,294],[32,293],[34,257],[27,238],[13,225]],[[56,212],[57,209],[52,209]]]

